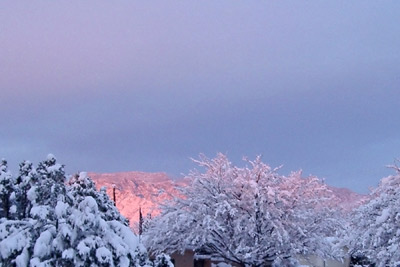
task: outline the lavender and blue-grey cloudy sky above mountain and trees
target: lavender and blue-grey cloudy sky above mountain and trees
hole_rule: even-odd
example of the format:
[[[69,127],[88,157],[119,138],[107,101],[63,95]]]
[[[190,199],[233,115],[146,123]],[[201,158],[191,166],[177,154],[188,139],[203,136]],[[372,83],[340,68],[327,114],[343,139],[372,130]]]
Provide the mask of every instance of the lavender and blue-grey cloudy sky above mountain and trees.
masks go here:
[[[399,1],[1,1],[0,157],[262,155],[367,193],[400,157]]]

